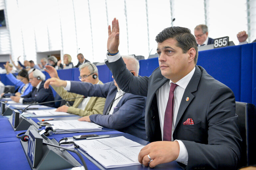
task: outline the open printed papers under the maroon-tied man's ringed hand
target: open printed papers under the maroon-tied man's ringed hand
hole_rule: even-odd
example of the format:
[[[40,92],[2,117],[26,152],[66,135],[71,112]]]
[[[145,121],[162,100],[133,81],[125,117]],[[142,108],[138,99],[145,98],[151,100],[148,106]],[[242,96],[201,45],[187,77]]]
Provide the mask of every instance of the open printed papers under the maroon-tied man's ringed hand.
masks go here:
[[[138,154],[144,147],[124,136],[79,140],[75,143],[107,169],[139,165]]]

